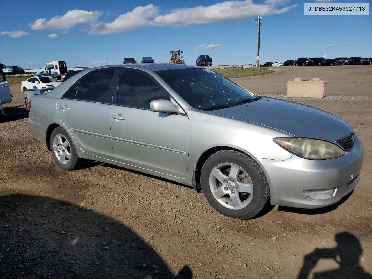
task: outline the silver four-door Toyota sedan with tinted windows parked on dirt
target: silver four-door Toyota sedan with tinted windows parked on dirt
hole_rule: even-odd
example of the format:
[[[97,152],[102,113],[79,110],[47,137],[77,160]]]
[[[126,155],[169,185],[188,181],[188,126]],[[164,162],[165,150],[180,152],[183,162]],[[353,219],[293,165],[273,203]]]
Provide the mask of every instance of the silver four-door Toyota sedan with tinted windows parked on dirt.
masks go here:
[[[31,97],[29,129],[62,169],[89,159],[153,174],[232,218],[268,203],[325,207],[360,179],[363,145],[344,119],[201,67],[102,66],[43,91]]]

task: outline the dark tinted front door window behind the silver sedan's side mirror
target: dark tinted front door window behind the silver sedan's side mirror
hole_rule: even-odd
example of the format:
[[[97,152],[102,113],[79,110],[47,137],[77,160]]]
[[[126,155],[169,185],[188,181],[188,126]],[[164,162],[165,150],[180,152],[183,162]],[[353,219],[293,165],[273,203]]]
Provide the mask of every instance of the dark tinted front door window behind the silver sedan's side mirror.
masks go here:
[[[170,100],[170,96],[145,74],[120,71],[118,105],[150,109],[150,102],[157,99]]]

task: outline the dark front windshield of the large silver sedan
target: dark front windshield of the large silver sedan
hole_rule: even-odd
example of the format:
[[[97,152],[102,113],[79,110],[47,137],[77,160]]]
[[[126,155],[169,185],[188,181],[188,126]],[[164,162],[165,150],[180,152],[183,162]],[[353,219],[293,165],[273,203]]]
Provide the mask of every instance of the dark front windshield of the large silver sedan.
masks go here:
[[[156,72],[190,106],[199,110],[228,108],[261,99],[208,69]]]

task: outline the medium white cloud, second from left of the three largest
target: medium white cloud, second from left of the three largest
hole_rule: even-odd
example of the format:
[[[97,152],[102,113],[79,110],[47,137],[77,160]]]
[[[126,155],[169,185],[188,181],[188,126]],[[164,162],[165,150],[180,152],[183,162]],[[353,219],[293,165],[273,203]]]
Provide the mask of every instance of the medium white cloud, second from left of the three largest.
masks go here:
[[[119,15],[111,23],[92,23],[88,34],[106,35],[132,31],[150,25],[151,19],[158,15],[158,8],[153,4],[135,7],[131,12]]]

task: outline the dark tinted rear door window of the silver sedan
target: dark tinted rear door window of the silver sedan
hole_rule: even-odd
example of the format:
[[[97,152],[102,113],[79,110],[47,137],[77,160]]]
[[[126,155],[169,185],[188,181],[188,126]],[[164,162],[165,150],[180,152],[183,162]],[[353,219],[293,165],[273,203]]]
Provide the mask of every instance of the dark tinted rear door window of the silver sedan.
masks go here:
[[[84,76],[78,83],[76,99],[99,102],[110,102],[110,87],[115,70],[101,70]]]

